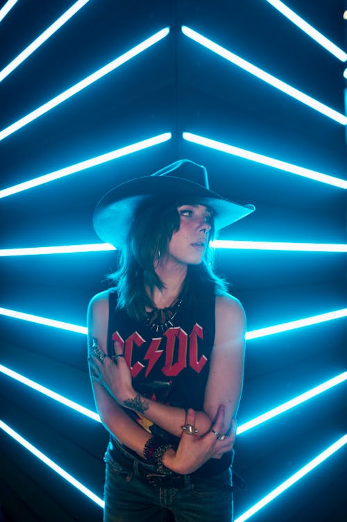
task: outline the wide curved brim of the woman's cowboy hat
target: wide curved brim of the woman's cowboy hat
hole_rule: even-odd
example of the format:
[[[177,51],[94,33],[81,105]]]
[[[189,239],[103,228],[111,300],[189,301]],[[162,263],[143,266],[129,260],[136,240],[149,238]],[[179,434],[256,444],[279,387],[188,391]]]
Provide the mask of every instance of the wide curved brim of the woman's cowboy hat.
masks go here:
[[[93,224],[96,234],[106,243],[122,249],[139,205],[146,199],[183,202],[189,199],[214,211],[214,228],[220,230],[251,212],[253,205],[239,205],[216,192],[189,180],[174,176],[144,176],[118,185],[96,205]]]

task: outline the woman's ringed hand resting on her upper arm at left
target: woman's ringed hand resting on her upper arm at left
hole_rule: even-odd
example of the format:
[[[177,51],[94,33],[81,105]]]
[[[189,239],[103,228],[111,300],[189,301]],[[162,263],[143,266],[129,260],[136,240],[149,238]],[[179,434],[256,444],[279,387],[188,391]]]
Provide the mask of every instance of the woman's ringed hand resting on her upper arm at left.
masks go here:
[[[115,342],[115,355],[108,357],[97,342],[89,349],[90,376],[94,382],[105,387],[120,405],[135,392],[131,374],[119,342]]]

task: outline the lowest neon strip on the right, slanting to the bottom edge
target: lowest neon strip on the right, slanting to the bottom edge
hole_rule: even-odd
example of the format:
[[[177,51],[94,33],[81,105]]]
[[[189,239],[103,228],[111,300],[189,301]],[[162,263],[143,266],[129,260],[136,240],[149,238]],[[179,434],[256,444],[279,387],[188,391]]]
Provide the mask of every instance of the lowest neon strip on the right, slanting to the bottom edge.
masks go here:
[[[313,460],[308,462],[303,468],[299,469],[294,473],[294,475],[291,475],[285,482],[282,482],[278,487],[273,489],[269,494],[264,496],[262,500],[259,500],[259,502],[255,503],[249,510],[244,512],[241,516],[238,516],[237,519],[235,519],[235,522],[244,522],[248,520],[253,514],[260,511],[266,504],[269,504],[274,498],[279,496],[281,493],[283,493],[286,489],[291,487],[295,484],[295,482],[298,482],[301,478],[303,478],[307,473],[310,473],[312,469],[314,469],[316,466],[324,462],[324,460],[328,459],[328,457],[331,457],[336,451],[341,449],[345,444],[347,443],[347,435],[344,435],[340,439],[338,439],[334,444],[329,446],[325,451],[317,455]]]

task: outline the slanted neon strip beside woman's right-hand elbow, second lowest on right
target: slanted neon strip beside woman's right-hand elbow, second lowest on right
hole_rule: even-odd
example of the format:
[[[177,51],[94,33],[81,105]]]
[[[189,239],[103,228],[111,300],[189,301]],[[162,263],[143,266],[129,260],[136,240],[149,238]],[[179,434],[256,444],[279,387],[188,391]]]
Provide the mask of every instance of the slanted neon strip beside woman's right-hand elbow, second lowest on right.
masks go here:
[[[344,382],[345,380],[347,380],[347,371],[344,371],[344,373],[340,373],[338,376],[323,382],[319,386],[309,389],[307,392],[292,398],[286,403],[274,407],[272,410],[269,410],[269,412],[265,412],[261,415],[258,415],[251,421],[241,424],[237,427],[237,435],[241,435],[242,433],[251,430],[251,428],[255,428],[255,426],[259,426],[260,424],[273,419],[273,417],[287,412],[299,404],[305,403],[305,401],[308,401],[310,398],[316,397],[317,395],[326,392],[328,389],[341,384],[341,382]]]

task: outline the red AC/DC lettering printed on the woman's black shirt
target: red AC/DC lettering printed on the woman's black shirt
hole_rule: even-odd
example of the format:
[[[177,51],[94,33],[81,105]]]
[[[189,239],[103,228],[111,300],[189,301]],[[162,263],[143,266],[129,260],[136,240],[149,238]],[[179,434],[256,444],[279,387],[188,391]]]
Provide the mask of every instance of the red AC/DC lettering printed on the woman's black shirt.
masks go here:
[[[203,328],[201,326],[195,323],[189,335],[180,327],[169,328],[163,337],[166,337],[166,347],[165,361],[161,370],[165,376],[177,376],[178,373],[187,367],[187,364],[189,364],[189,367],[195,370],[196,373],[201,372],[207,362],[205,355],[201,355],[198,360],[198,337],[203,339]],[[142,346],[146,340],[141,337],[138,332],[134,332],[124,342],[124,339],[121,338],[117,331],[112,334],[112,341],[117,341],[121,344],[126,362],[130,368],[131,376],[136,377],[145,366],[142,362],[133,362],[133,346],[134,344],[136,346]],[[161,342],[162,337],[153,338],[144,355],[144,360],[148,361],[145,373],[146,377],[155,364],[157,364],[158,360],[162,358],[164,350],[160,350]],[[174,362],[174,360],[176,360],[176,362]]]

